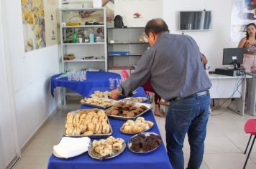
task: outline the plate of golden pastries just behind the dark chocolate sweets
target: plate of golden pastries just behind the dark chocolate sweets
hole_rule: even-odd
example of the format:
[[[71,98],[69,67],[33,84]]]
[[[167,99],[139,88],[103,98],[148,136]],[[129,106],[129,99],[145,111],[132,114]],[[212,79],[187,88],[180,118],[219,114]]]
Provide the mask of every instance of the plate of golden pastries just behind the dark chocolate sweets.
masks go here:
[[[154,126],[154,122],[145,120],[144,117],[137,117],[136,120],[127,120],[124,122],[120,131],[127,135],[135,135],[140,132],[150,130]]]

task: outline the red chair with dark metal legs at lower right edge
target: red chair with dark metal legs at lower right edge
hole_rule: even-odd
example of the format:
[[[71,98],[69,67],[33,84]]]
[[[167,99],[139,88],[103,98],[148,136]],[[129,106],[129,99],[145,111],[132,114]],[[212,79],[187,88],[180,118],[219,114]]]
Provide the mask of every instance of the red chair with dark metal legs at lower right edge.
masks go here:
[[[244,132],[250,134],[250,138],[249,138],[249,141],[247,143],[247,146],[246,146],[246,149],[244,151],[244,154],[246,154],[246,152],[247,152],[247,148],[248,148],[248,146],[250,144],[252,135],[255,136],[255,137],[253,137],[251,148],[249,150],[249,153],[248,153],[247,158],[246,158],[245,163],[244,163],[244,168],[245,168],[246,165],[247,165],[247,161],[249,159],[250,153],[252,151],[252,147],[253,147],[253,145],[255,143],[255,139],[256,139],[256,119],[247,120],[247,122],[244,125]]]

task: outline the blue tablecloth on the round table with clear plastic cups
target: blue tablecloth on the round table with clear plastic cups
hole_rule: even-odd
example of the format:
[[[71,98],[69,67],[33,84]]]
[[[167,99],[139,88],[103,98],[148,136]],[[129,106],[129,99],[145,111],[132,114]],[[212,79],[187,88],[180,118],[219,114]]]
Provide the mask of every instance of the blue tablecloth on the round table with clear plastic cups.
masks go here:
[[[119,74],[112,72],[86,72],[86,80],[83,82],[68,81],[67,77],[56,79],[59,76],[60,74],[56,74],[51,77],[50,92],[52,97],[54,96],[53,90],[55,87],[66,87],[82,96],[86,96],[92,87],[109,87],[109,78],[121,79]]]

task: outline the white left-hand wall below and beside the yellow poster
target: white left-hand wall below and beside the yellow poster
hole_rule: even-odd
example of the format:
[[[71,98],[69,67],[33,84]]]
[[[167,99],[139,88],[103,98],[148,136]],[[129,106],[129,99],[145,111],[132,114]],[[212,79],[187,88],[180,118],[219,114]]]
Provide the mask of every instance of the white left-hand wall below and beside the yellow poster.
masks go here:
[[[60,104],[50,95],[50,77],[59,72],[58,45],[24,52],[20,0],[4,0],[5,45],[11,63],[20,148]],[[56,9],[57,10],[57,9]]]

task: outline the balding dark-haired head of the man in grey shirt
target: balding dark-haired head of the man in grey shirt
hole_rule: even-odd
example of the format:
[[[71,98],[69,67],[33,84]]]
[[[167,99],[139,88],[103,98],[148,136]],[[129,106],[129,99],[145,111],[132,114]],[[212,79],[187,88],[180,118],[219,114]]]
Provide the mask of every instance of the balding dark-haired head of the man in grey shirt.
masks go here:
[[[163,34],[163,32],[169,32],[168,26],[163,19],[151,19],[147,22],[145,34],[147,35],[147,40],[150,43],[150,46],[155,45],[157,38],[160,34]]]

